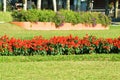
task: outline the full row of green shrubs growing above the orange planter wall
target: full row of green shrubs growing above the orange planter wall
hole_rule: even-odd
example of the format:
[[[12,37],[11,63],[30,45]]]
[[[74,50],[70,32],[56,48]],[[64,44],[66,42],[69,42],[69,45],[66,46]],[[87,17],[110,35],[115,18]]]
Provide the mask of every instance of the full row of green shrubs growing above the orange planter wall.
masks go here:
[[[56,13],[52,10],[22,10],[14,11],[12,16],[14,21],[54,22],[56,25],[68,22],[72,24],[84,23],[93,25],[100,23],[107,26],[111,23],[110,18],[99,12],[74,12],[71,10],[60,10]]]

